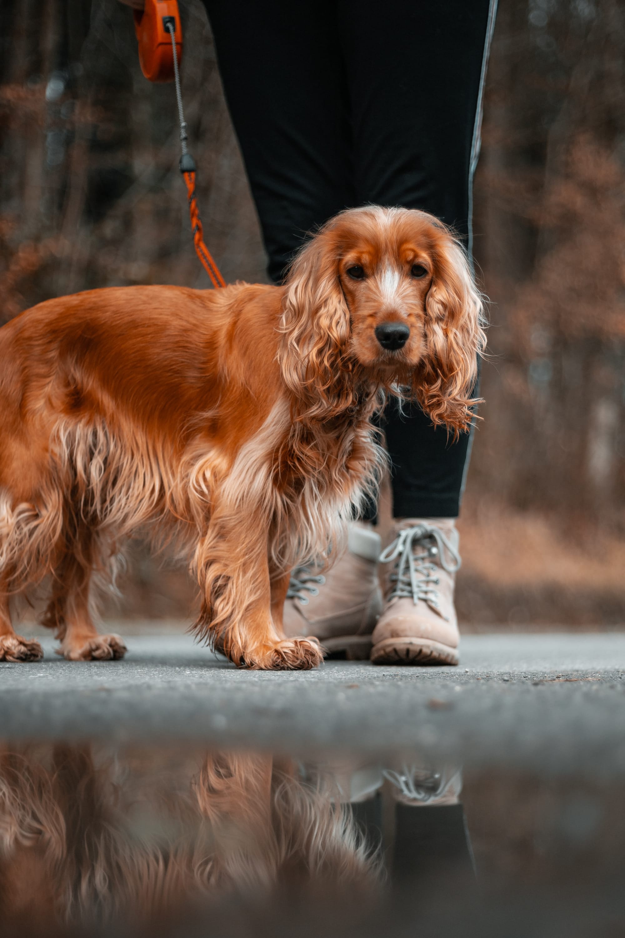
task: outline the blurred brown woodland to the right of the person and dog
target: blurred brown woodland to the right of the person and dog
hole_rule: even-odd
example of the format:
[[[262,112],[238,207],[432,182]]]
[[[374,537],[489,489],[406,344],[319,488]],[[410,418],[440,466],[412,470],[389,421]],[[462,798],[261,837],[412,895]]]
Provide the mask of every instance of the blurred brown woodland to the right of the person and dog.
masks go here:
[[[473,484],[623,534],[625,9],[500,5],[476,253],[495,301]]]

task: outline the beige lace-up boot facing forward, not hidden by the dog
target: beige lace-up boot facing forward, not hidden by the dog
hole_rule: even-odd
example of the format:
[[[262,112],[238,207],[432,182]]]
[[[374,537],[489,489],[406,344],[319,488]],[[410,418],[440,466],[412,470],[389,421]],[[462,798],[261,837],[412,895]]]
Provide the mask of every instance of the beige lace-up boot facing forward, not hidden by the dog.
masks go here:
[[[375,664],[458,664],[453,605],[460,568],[459,535],[451,518],[408,518],[380,554],[388,564],[385,606],[373,630]]]

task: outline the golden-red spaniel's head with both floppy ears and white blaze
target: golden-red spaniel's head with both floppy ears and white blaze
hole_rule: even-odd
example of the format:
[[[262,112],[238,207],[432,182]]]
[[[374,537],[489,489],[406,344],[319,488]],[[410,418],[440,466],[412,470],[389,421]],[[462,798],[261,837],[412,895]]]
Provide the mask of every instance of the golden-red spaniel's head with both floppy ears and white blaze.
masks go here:
[[[465,250],[434,216],[350,209],[330,219],[291,267],[283,305],[282,373],[312,418],[338,414],[358,381],[416,397],[453,431],[485,337]]]

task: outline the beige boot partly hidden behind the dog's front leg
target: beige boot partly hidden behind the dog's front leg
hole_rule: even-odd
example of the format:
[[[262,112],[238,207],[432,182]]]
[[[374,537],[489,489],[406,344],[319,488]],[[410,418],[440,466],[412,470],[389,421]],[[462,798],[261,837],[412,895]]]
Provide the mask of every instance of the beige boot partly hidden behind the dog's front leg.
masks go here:
[[[379,552],[380,536],[354,523],[347,550],[327,573],[297,567],[284,603],[286,637],[313,636],[330,655],[369,658],[373,626],[382,610]]]

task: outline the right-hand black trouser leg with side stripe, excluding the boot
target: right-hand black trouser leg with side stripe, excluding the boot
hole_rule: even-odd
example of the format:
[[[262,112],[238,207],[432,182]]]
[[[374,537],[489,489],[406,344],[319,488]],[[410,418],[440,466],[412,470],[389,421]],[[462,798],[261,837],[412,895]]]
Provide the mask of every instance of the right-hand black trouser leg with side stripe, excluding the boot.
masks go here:
[[[471,188],[495,0],[340,0],[358,204],[419,208],[471,248]],[[418,405],[385,425],[396,518],[455,518],[469,434],[434,429]]]

